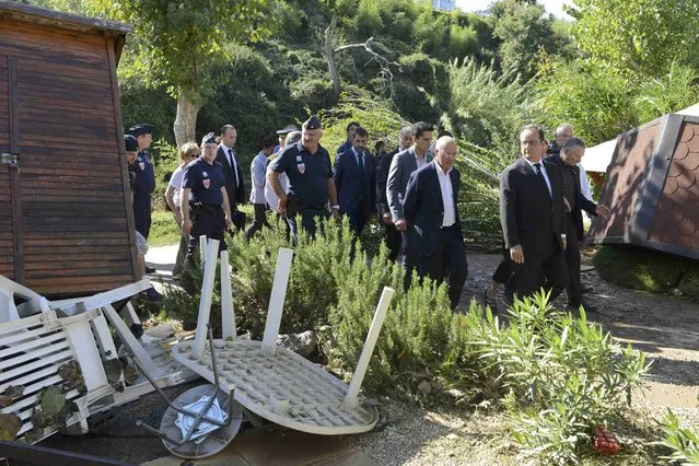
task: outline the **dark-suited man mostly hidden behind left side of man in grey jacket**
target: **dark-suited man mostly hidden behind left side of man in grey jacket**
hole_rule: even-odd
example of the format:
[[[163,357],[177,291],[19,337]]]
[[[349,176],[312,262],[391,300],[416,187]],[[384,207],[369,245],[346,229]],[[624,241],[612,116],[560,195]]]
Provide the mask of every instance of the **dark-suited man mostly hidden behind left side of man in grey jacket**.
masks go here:
[[[396,230],[391,217],[391,209],[388,208],[388,199],[386,198],[386,182],[388,180],[388,168],[391,168],[391,162],[398,152],[403,152],[410,148],[412,144],[412,127],[406,126],[400,130],[398,135],[398,147],[383,154],[378,159],[378,166],[376,167],[376,210],[378,219],[384,224],[384,243],[388,248],[388,259],[396,260],[398,253],[400,253],[400,232]]]

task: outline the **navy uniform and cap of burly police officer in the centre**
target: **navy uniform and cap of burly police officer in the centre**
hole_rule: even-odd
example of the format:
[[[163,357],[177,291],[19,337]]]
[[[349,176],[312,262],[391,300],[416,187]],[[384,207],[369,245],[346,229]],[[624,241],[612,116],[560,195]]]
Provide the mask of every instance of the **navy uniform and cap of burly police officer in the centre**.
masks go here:
[[[310,118],[304,125],[307,129],[321,128],[317,117]],[[301,217],[301,226],[313,236],[315,222],[328,217],[327,183],[333,178],[328,151],[318,145],[318,151],[312,154],[299,141],[281,151],[271,163],[271,170],[289,177],[287,221],[292,236],[296,238],[296,214]]]

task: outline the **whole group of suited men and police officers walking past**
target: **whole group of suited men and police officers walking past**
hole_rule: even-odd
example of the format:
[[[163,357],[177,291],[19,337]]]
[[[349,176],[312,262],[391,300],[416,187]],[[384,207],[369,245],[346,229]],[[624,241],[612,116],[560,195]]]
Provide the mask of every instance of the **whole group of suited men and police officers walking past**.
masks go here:
[[[147,153],[152,127],[138,125],[129,132],[125,143],[140,254],[149,235],[155,186]],[[435,138],[434,127],[419,121],[400,130],[396,149],[386,152],[385,145],[376,144],[373,155],[368,150],[369,132],[353,121],[333,162],[321,145],[322,135],[322,121],[312,116],[301,130],[289,125],[277,131],[278,139],[270,135],[259,141],[249,168],[254,218],[247,228],[237,208],[246,199],[235,127],[224,125],[218,135],[205,136],[200,145],[184,144],[180,164],[165,191],[183,233],[174,273],[191,260],[200,235],[219,240],[224,249],[226,231],[249,238],[268,226],[270,209],[286,220],[294,244],[300,229],[315,235],[322,219],[346,215],[356,240],[376,219],[384,229],[389,259],[400,260],[406,268],[404,287],[411,286],[413,271],[420,278],[446,281],[455,310],[468,264],[458,212],[462,182],[454,166],[458,155],[454,138],[448,133]],[[584,300],[589,290],[580,281],[582,211],[607,218],[609,209],[592,201],[580,165],[585,144],[573,137],[570,125],[556,129],[550,145],[544,131],[529,125],[520,133],[520,148],[521,156],[500,176],[503,259],[484,299],[497,305],[501,284],[508,304],[515,295],[527,296],[545,288],[551,299],[567,290],[570,306],[594,310]]]

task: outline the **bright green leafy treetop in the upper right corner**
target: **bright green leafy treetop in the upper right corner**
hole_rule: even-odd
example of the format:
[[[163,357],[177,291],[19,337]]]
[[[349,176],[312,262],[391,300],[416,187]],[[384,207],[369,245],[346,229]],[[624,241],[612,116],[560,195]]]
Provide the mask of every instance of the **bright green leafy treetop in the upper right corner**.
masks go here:
[[[573,0],[573,37],[620,72],[655,77],[674,61],[697,63],[699,0]]]

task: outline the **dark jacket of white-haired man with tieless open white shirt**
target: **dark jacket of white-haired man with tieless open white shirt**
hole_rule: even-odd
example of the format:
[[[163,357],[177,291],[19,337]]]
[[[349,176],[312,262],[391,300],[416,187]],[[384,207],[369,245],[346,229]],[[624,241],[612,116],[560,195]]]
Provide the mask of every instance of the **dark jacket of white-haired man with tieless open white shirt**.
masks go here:
[[[406,248],[409,254],[431,256],[440,242],[440,230],[444,220],[444,203],[435,163],[430,162],[412,172],[408,180],[403,213],[408,223]],[[461,187],[461,173],[458,170],[452,168],[450,178],[454,194],[452,199],[452,202],[454,202],[454,215],[463,241],[457,209],[458,189]]]

